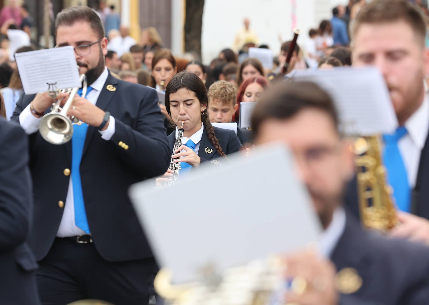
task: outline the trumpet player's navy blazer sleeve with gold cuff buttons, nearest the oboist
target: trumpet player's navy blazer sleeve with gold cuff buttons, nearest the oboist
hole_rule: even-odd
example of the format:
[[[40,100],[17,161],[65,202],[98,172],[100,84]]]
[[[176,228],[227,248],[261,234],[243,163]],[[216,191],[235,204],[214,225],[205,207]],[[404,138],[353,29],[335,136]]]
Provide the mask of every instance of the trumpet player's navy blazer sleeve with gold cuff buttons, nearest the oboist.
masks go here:
[[[111,141],[118,148],[122,160],[136,170],[145,172],[148,177],[155,177],[165,172],[170,149],[158,106],[157,93],[150,88],[141,88],[141,90],[142,100],[135,128],[115,118],[115,134]],[[118,145],[119,142],[126,143],[128,149],[124,150]]]

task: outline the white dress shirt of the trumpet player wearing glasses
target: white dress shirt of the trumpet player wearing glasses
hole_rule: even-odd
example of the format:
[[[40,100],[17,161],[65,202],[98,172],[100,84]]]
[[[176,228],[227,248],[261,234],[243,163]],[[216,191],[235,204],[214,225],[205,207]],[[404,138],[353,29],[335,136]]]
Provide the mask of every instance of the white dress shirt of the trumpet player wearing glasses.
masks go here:
[[[107,76],[109,72],[107,68],[101,73],[99,78],[91,84],[93,90],[91,90],[85,97],[89,102],[96,105],[100,92],[103,89],[104,84],[106,83]],[[25,130],[27,134],[35,133],[39,130],[41,118],[36,118],[30,111],[30,105],[28,105],[19,115],[19,122],[21,127]],[[109,126],[106,130],[100,131],[101,138],[109,141],[112,136],[115,134],[115,118],[110,116]],[[73,175],[73,173],[72,173]],[[75,223],[75,206],[73,199],[73,184],[71,176],[69,176],[69,188],[67,190],[66,203],[64,205],[63,217],[61,218],[60,226],[58,227],[57,236],[58,237],[69,237],[76,235],[85,235],[86,233],[81,230]]]

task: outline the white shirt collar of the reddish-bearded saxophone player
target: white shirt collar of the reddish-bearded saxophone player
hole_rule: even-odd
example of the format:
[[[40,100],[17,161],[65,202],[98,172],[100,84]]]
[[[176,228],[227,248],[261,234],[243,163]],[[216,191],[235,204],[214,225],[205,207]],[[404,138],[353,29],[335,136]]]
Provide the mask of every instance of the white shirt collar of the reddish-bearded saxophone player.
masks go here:
[[[418,148],[423,149],[429,131],[429,101],[426,95],[417,111],[405,122],[405,128],[411,141]]]

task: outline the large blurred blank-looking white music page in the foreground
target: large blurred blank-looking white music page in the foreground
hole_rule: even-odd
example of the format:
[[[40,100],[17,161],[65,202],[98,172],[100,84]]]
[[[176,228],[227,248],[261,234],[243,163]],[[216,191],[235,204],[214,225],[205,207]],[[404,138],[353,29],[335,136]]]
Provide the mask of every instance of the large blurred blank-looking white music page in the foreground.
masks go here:
[[[172,270],[174,283],[196,280],[204,266],[222,272],[305,247],[320,235],[320,221],[284,146],[228,159],[201,164],[171,187],[154,189],[151,180],[130,188],[157,262]]]

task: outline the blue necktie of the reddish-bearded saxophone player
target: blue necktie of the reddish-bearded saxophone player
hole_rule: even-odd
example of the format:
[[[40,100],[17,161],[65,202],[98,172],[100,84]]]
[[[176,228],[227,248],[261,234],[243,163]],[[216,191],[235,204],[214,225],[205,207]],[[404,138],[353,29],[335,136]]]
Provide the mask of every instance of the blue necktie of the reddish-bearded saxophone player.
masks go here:
[[[399,210],[410,211],[410,186],[407,171],[398,148],[398,141],[407,134],[405,127],[399,127],[391,135],[383,135],[384,165],[387,168],[387,180],[393,187],[393,197]]]

